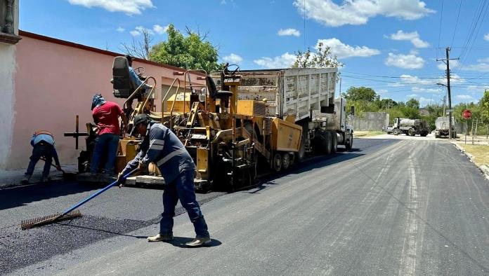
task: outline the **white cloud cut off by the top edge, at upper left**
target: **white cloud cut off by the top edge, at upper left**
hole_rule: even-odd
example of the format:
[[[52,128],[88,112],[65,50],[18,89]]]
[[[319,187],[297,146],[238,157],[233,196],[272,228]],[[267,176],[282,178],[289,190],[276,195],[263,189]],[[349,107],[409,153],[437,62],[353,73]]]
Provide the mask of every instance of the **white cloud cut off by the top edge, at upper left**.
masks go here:
[[[154,8],[152,0],[68,0],[72,5],[86,8],[105,8],[110,12],[122,12],[127,15],[139,15],[146,8]]]

